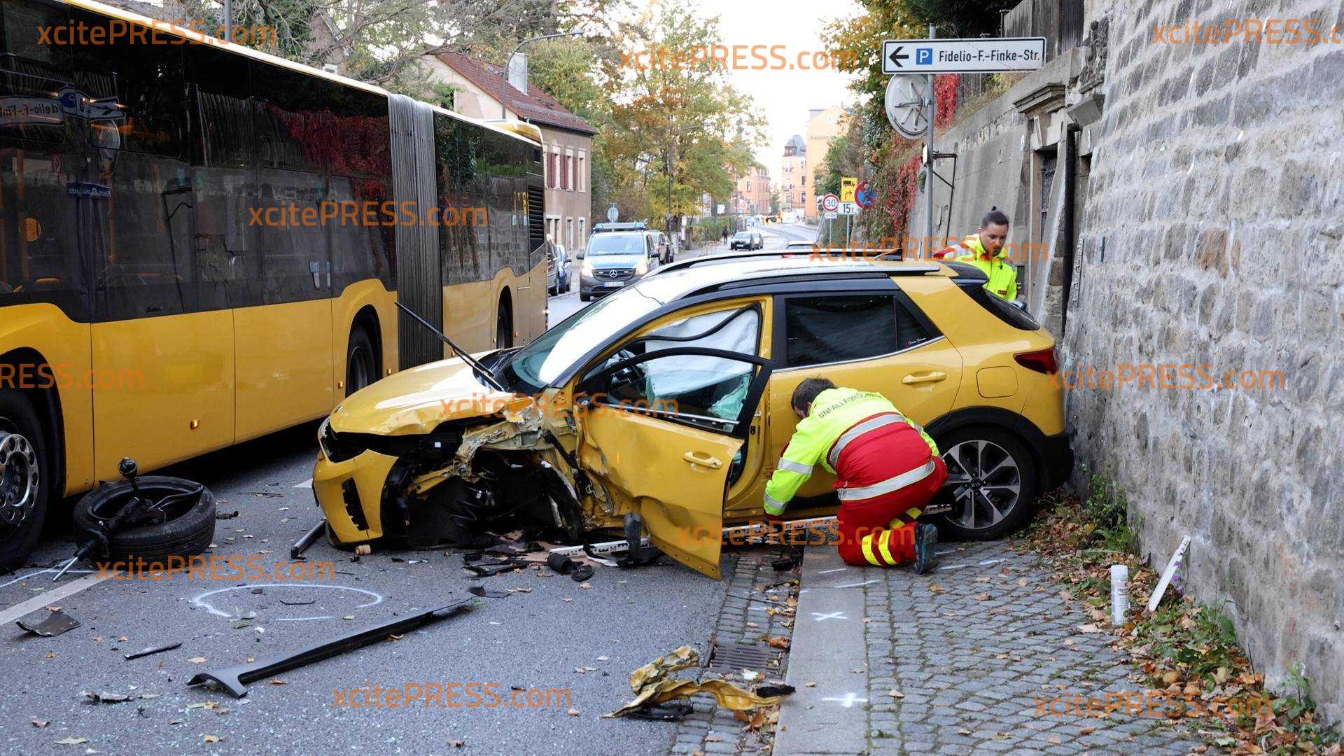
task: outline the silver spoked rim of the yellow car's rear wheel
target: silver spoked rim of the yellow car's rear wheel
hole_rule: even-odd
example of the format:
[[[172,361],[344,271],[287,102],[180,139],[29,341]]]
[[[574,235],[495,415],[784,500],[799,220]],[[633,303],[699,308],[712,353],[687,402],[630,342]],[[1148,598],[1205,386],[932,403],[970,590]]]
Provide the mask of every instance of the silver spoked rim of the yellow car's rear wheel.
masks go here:
[[[1021,469],[993,441],[962,441],[943,452],[953,510],[948,518],[968,530],[993,527],[1021,499]]]

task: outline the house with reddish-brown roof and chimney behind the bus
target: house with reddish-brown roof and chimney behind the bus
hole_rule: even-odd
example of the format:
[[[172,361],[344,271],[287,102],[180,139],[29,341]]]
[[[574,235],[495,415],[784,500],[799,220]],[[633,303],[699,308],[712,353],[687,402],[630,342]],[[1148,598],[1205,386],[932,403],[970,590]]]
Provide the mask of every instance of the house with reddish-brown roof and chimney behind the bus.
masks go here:
[[[499,120],[500,100],[508,117],[542,129],[546,155],[546,234],[566,249],[587,246],[591,229],[591,153],[597,133],[583,118],[570,113],[550,94],[528,86],[526,75],[507,81],[500,66],[461,52],[426,58],[433,81],[452,85],[453,110],[473,118]],[[519,87],[521,85],[521,87]],[[504,94],[504,87],[509,87]]]

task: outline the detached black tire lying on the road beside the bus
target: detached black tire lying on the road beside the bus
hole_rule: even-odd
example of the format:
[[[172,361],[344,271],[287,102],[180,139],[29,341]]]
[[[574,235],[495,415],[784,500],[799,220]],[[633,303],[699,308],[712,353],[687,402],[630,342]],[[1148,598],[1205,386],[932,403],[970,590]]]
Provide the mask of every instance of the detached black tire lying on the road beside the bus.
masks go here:
[[[140,492],[151,500],[169,494],[183,494],[198,484],[181,478],[141,475],[136,479]],[[74,525],[79,538],[110,519],[130,496],[130,483],[109,483],[94,488],[75,504]],[[200,554],[215,537],[215,496],[206,488],[195,502],[169,507],[169,519],[161,525],[129,527],[113,533],[108,539],[108,558],[161,560],[164,557],[191,557]]]

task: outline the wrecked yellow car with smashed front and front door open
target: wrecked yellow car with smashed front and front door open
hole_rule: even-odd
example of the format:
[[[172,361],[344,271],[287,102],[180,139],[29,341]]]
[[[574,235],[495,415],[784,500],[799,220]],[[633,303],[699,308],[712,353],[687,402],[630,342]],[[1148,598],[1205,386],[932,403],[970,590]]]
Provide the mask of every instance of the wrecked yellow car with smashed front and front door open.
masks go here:
[[[762,515],[804,378],[880,391],[938,443],[943,538],[1025,522],[1073,465],[1055,339],[958,262],[788,252],[667,265],[527,347],[384,378],[319,430],[313,491],[340,546],[470,545],[526,527],[642,529],[719,577]],[[818,471],[790,518],[835,514]],[[598,539],[598,538],[593,538]]]

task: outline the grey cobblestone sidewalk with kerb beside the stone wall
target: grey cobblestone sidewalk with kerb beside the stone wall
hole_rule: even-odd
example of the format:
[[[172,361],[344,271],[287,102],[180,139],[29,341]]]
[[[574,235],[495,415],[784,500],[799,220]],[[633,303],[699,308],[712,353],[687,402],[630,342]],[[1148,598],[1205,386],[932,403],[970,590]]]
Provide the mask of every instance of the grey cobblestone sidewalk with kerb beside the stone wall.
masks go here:
[[[1074,697],[1105,698],[1106,691],[1145,686],[1130,679],[1132,666],[1109,647],[1109,623],[1095,623],[1066,601],[1063,587],[1035,566],[1035,556],[1004,542],[942,545],[938,570],[918,576],[907,568],[845,566],[820,549],[809,547],[804,561],[798,621],[808,621],[810,604],[821,600],[813,596],[862,591],[867,663],[844,671],[864,677],[855,674],[856,690],[844,695],[817,693],[786,704],[780,724],[797,730],[780,739],[785,748],[777,755],[839,752],[828,745],[833,739],[824,736],[825,728],[816,726],[824,721],[833,729],[836,717],[845,726],[866,726],[866,743],[853,745],[872,755],[1189,753],[1202,744],[1188,728],[1163,718],[1122,710],[1089,717],[1086,708],[1068,706]],[[821,588],[810,591],[814,584]],[[827,613],[813,616],[820,621]],[[806,654],[805,639],[816,636],[800,626],[794,638],[792,654],[798,656]],[[863,659],[845,648],[831,652]],[[1054,714],[1044,713],[1056,697]]]

